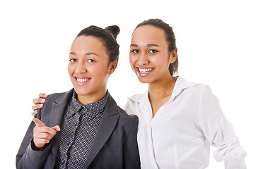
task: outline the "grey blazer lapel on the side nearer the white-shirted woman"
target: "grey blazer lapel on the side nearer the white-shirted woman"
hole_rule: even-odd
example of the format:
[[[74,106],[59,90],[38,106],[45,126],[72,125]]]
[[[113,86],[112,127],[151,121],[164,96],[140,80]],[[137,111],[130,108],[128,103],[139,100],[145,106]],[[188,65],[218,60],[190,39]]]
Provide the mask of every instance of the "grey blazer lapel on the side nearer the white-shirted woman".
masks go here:
[[[109,96],[97,134],[95,135],[87,158],[86,168],[88,168],[95,156],[97,156],[100,149],[104,146],[105,142],[107,142],[107,139],[110,137],[115,129],[115,126],[117,125],[119,117],[120,114],[117,111],[117,104],[115,100],[112,99],[112,96]]]

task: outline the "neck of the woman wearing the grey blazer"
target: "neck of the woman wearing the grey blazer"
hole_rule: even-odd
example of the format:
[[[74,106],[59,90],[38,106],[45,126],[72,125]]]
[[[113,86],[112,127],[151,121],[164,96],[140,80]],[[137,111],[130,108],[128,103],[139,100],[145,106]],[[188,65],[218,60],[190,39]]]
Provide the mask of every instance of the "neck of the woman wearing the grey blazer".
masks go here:
[[[91,104],[96,101],[99,101],[100,99],[103,99],[103,97],[107,94],[107,89],[103,90],[102,92],[97,92],[97,94],[87,94],[87,95],[77,95],[78,101],[80,101],[81,104]]]

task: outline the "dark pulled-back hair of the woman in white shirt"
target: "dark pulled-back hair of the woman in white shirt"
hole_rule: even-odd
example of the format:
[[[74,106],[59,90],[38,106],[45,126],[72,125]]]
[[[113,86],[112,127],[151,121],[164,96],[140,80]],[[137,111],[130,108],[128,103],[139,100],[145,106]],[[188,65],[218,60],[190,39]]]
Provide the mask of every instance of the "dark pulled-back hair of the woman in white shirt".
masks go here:
[[[161,28],[165,32],[166,42],[168,43],[168,50],[169,52],[172,52],[173,50],[177,50],[176,47],[176,39],[173,32],[173,27],[170,27],[167,23],[163,22],[161,19],[149,19],[144,20],[144,22],[139,23],[139,25],[136,26],[136,28],[143,26],[143,25],[152,25],[154,27]],[[136,30],[135,28],[135,30]],[[170,75],[173,76],[174,73],[178,72],[178,56],[175,60],[175,62],[170,63],[169,65],[169,72]]]

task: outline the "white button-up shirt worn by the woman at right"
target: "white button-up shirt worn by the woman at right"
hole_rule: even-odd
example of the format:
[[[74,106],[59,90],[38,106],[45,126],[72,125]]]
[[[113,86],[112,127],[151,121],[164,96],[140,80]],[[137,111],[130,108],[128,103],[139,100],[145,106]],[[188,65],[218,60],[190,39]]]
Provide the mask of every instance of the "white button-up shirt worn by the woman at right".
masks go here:
[[[148,95],[149,90],[130,97],[124,108],[139,117],[141,168],[206,168],[210,145],[227,169],[245,168],[246,152],[209,86],[178,77],[170,100],[154,117]]]

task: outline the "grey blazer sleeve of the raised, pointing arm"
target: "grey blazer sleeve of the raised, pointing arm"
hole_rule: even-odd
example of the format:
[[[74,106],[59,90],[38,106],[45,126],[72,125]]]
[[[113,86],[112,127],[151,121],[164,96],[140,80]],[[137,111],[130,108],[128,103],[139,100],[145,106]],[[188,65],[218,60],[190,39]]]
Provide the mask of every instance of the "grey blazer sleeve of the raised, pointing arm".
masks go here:
[[[41,119],[42,109],[40,109],[35,116],[38,119]],[[23,138],[20,149],[16,156],[16,168],[18,169],[36,169],[42,168],[45,165],[47,160],[47,155],[50,152],[50,146],[47,146],[43,151],[36,151],[32,149],[31,142],[33,142],[33,129],[35,123],[32,121],[28,127],[28,130]]]

